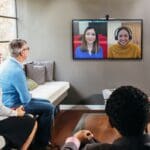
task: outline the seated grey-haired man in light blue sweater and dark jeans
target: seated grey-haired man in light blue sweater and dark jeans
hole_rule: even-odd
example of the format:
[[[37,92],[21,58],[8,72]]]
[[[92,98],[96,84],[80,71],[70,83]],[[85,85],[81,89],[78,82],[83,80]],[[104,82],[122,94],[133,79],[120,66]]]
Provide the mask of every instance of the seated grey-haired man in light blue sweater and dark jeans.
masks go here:
[[[0,87],[3,103],[10,108],[23,105],[27,113],[38,115],[36,145],[44,149],[51,139],[51,125],[54,119],[54,106],[43,99],[33,99],[28,91],[22,63],[27,59],[29,47],[22,39],[13,40],[10,45],[11,57],[0,67]]]

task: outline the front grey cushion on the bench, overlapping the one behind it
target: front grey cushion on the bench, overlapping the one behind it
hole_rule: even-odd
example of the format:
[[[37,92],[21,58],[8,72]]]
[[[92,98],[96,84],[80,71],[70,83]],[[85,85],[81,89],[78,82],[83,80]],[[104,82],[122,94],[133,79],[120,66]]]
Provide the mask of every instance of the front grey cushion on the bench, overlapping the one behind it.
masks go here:
[[[28,63],[26,64],[26,73],[27,77],[38,84],[43,84],[45,82],[45,66]]]

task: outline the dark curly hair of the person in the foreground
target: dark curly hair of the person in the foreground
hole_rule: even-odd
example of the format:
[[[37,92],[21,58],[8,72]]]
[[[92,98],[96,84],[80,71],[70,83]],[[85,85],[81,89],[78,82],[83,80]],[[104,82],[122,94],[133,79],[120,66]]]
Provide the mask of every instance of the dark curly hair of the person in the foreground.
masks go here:
[[[106,113],[110,123],[123,136],[137,136],[148,119],[148,96],[133,86],[121,86],[110,96]]]

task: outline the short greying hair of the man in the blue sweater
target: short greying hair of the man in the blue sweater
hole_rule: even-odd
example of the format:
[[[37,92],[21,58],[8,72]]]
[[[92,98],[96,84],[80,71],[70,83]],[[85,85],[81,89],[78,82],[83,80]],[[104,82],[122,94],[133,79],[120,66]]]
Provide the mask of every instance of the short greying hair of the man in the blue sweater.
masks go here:
[[[21,52],[20,48],[22,48],[22,46],[26,43],[27,42],[25,40],[22,40],[22,39],[12,40],[9,44],[9,50],[10,50],[11,56],[18,57],[18,55]]]

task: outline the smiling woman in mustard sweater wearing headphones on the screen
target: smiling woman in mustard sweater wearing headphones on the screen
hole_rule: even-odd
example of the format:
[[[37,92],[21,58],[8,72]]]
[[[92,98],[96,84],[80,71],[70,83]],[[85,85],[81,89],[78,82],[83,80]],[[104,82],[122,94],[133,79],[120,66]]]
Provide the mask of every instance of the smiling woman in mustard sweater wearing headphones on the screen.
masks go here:
[[[141,58],[141,50],[137,44],[131,42],[132,31],[128,27],[119,27],[115,30],[117,43],[110,46],[108,58]]]

